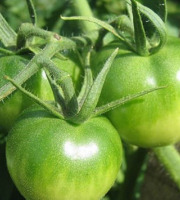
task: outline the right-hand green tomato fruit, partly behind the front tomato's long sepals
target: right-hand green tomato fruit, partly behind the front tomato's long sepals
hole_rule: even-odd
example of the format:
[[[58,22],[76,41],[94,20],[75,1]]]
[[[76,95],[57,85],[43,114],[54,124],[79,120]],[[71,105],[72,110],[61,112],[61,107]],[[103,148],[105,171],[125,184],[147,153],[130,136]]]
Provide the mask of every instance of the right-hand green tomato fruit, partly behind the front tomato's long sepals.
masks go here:
[[[169,38],[165,47],[141,57],[121,43],[112,43],[96,55],[94,71],[120,47],[107,76],[100,104],[158,86],[167,88],[135,99],[108,113],[122,138],[141,147],[180,140],[180,40]]]

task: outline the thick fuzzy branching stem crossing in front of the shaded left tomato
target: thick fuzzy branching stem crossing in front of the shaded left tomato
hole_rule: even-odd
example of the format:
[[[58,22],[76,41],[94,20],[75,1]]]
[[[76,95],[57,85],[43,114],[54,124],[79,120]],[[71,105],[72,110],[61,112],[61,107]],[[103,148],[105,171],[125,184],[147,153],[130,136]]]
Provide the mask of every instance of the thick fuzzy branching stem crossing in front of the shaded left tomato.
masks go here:
[[[69,39],[66,37],[59,36],[55,33],[36,28],[32,24],[23,24],[20,33],[18,34],[17,46],[20,49],[22,49],[26,44],[26,40],[34,35],[48,40],[49,43],[38,55],[34,56],[34,58],[28,63],[24,70],[22,70],[19,74],[16,75],[16,77],[14,77],[14,80],[20,85],[38,71],[39,67],[37,66],[37,59],[51,59],[55,54],[57,54],[61,50],[77,49],[82,48],[84,46],[92,45],[92,43],[97,39],[96,37],[92,36],[93,39],[91,40],[91,34],[90,38],[88,36],[82,36],[79,38],[73,37]],[[79,40],[80,38],[82,40]],[[1,87],[0,101],[6,98],[9,94],[11,94],[15,89],[16,88],[9,83]]]

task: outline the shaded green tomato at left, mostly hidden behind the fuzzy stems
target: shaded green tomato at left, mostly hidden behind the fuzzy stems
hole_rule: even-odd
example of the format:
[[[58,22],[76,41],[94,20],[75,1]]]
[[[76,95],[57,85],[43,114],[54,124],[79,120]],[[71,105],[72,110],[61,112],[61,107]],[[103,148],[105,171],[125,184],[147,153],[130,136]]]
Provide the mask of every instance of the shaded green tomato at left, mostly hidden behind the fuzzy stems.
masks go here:
[[[59,68],[67,71],[72,76],[75,87],[78,88],[79,82],[77,80],[79,79],[78,77],[80,74],[80,62],[71,52],[67,56],[67,60],[54,58],[53,61]],[[26,66],[28,62],[29,60],[17,55],[1,56],[0,87],[7,82],[3,78],[4,75],[13,78]],[[43,100],[53,100],[52,90],[43,70],[40,70],[30,80],[28,80],[24,84],[24,87]],[[4,129],[4,131],[8,131],[20,112],[31,104],[32,101],[19,91],[8,96],[3,100],[3,102],[0,102],[0,127]]]

